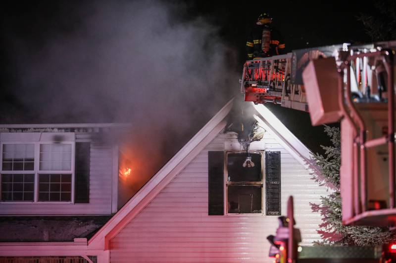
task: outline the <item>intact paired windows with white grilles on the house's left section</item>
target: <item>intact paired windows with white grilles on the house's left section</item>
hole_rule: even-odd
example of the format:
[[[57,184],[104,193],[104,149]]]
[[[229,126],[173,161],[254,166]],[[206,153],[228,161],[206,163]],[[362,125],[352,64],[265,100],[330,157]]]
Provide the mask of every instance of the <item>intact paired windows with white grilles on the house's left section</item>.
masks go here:
[[[2,143],[0,201],[73,202],[74,147]]]

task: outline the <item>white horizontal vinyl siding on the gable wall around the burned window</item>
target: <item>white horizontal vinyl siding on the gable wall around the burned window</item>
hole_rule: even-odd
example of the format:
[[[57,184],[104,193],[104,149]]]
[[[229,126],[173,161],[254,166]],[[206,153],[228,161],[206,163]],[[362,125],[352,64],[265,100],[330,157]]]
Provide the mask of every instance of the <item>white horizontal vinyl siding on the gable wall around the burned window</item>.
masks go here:
[[[208,144],[110,241],[110,262],[272,263],[266,237],[275,234],[276,216],[208,216],[208,151],[240,150],[237,146],[233,134],[219,134]],[[281,152],[282,214],[293,195],[301,245],[320,239],[321,216],[309,203],[319,203],[326,189],[269,132],[251,150]]]

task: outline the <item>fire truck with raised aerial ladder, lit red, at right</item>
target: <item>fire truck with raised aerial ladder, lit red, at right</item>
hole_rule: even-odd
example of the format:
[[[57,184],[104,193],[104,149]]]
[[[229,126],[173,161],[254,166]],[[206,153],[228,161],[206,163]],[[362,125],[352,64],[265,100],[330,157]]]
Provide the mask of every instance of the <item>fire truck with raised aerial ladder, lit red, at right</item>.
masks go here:
[[[295,50],[249,60],[245,101],[308,112],[312,125],[341,124],[341,198],[345,225],[396,226],[396,41]],[[293,197],[279,218],[269,255],[275,262],[396,262],[383,247],[298,247]],[[336,257],[336,258],[335,258]]]

